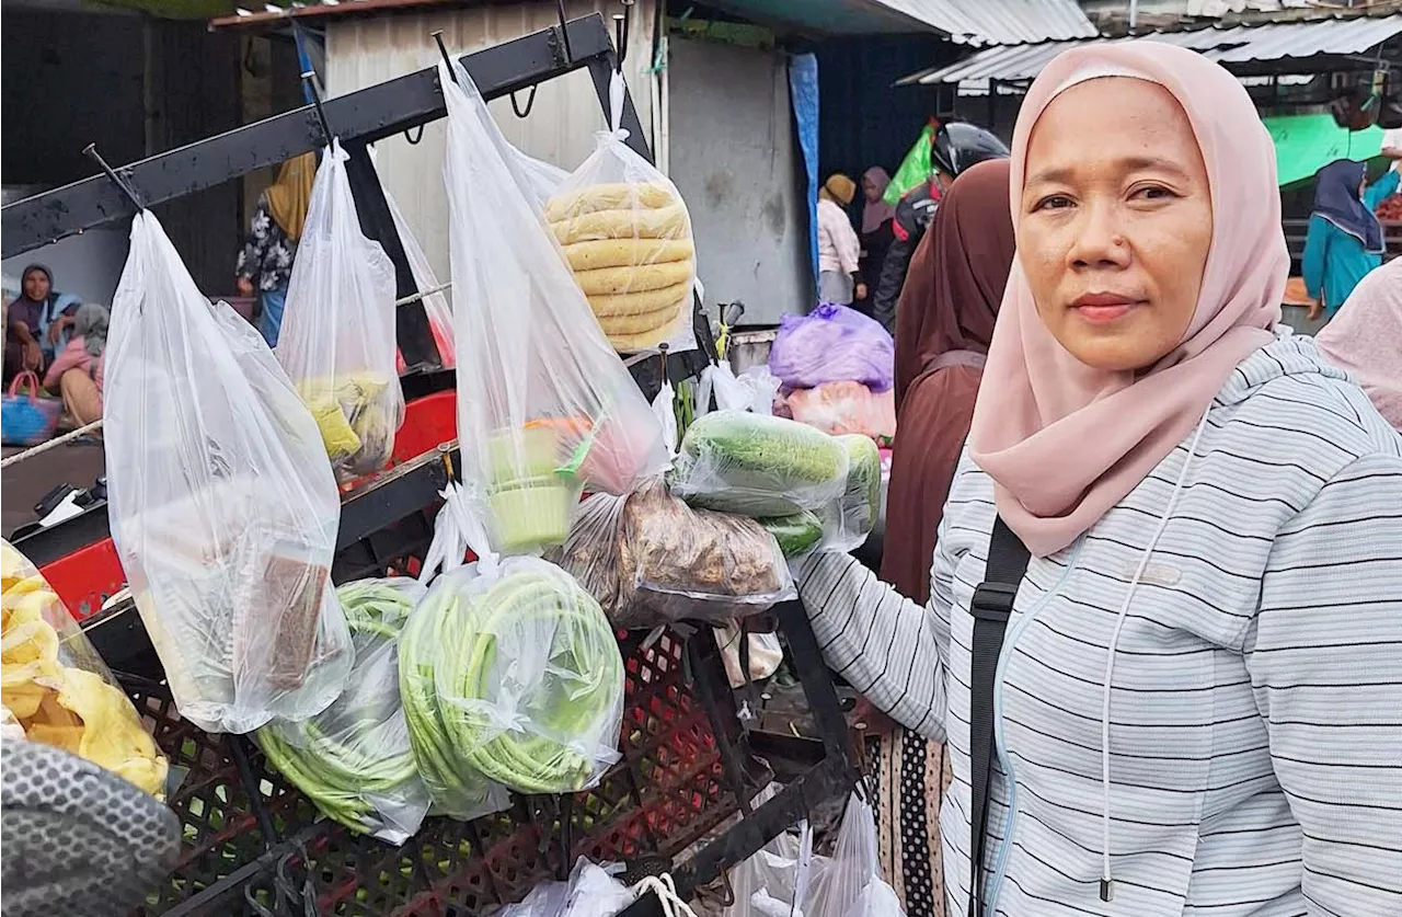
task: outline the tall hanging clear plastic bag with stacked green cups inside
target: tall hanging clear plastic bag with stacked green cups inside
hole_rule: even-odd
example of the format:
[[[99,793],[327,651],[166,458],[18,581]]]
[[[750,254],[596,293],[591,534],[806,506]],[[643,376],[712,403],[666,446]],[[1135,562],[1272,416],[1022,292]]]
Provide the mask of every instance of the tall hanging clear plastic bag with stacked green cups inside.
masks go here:
[[[503,552],[559,544],[580,487],[627,494],[667,464],[652,408],[604,339],[465,70],[449,109],[463,481]]]

